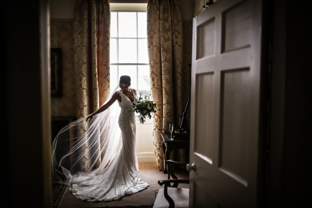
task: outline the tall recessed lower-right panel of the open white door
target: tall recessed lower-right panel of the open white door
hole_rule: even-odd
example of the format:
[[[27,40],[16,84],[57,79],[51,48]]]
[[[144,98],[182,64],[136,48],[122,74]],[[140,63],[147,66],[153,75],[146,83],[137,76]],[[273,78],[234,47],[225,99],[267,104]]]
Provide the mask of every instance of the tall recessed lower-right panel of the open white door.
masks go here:
[[[228,176],[247,185],[250,127],[249,69],[221,73],[220,162]]]

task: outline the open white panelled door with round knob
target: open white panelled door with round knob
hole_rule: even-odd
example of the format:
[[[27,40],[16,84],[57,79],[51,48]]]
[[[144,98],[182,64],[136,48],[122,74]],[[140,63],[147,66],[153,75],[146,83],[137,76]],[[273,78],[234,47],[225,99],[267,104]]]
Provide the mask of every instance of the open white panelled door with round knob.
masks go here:
[[[190,207],[259,204],[261,18],[219,0],[193,19]]]

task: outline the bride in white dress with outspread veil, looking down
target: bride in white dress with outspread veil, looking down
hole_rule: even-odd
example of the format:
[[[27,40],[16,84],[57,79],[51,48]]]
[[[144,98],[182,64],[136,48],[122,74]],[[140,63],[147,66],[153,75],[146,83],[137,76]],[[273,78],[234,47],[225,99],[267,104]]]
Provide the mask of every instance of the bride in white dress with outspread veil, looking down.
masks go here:
[[[87,118],[61,129],[52,143],[54,180],[69,185],[77,198],[119,200],[149,186],[139,174],[131,110],[136,91],[130,85],[130,77],[121,76],[120,90],[116,87],[100,109]],[[116,100],[120,108],[116,108]],[[115,154],[120,133],[122,144]]]

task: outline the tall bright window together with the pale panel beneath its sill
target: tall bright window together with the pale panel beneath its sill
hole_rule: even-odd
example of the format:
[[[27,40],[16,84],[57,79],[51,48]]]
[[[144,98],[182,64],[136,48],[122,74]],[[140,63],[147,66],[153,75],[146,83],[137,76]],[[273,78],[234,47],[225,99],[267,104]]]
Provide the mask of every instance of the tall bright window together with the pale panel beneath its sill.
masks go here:
[[[116,86],[121,75],[129,75],[131,87],[148,95],[147,3],[110,3],[110,9],[110,86]],[[136,119],[135,140],[138,162],[155,162],[151,119],[144,124]]]

